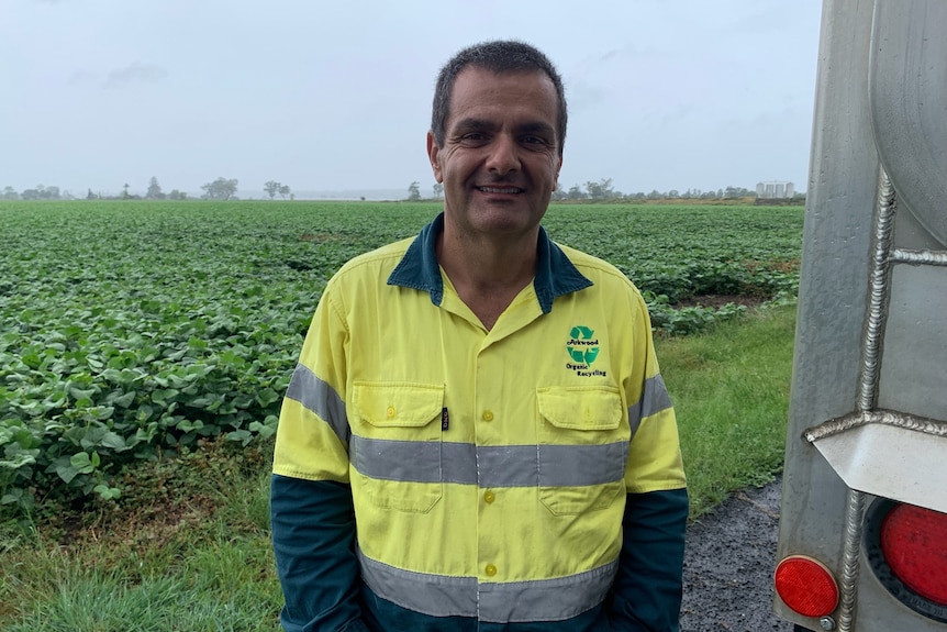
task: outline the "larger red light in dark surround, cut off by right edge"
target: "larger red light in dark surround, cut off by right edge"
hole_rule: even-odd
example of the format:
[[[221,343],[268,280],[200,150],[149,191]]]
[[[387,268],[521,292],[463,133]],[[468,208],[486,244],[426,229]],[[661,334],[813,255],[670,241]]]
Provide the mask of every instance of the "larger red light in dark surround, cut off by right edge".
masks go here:
[[[881,551],[905,586],[947,606],[947,514],[895,506],[881,523]]]

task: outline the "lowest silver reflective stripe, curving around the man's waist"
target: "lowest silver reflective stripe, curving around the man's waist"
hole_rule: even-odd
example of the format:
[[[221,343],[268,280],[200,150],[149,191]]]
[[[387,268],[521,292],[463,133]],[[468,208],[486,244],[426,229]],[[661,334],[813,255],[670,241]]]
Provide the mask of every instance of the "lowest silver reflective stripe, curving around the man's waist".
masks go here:
[[[592,570],[533,581],[478,583],[403,570],[358,551],[361,577],[378,597],[430,617],[476,617],[491,623],[562,621],[594,608],[605,598],[617,561]]]

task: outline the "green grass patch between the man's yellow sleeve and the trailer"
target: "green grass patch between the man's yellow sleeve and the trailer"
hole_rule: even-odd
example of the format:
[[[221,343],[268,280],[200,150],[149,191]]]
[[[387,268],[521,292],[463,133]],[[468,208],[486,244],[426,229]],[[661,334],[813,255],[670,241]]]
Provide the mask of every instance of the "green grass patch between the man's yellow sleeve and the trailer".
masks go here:
[[[691,519],[782,468],[795,304],[656,341],[681,435]]]

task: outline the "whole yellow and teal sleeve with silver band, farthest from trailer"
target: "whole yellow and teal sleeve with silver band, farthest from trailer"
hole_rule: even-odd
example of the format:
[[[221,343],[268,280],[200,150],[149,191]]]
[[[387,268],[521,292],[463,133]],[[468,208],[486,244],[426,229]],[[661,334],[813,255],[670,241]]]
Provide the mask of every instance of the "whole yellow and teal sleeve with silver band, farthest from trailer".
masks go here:
[[[345,323],[320,300],[280,410],[270,484],[286,632],[367,632],[355,555],[345,413]]]

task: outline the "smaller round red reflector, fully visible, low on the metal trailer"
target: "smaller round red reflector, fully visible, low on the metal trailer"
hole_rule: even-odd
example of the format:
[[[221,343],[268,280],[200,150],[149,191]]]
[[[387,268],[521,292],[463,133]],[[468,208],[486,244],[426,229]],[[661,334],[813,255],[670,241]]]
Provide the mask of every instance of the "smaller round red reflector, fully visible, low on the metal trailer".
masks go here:
[[[803,617],[825,617],[838,606],[838,584],[828,568],[805,555],[791,555],[776,567],[776,592]]]

